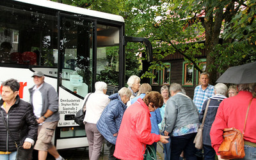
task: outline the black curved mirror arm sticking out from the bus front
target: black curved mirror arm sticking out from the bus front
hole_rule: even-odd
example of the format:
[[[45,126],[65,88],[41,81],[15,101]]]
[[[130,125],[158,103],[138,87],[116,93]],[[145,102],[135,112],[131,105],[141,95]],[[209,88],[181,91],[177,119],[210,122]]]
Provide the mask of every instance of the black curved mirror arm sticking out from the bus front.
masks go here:
[[[127,42],[141,42],[144,43],[146,46],[146,54],[148,57],[148,62],[151,62],[153,59],[153,49],[150,41],[147,38],[140,38],[140,37],[130,37],[124,36],[124,45],[127,45]]]

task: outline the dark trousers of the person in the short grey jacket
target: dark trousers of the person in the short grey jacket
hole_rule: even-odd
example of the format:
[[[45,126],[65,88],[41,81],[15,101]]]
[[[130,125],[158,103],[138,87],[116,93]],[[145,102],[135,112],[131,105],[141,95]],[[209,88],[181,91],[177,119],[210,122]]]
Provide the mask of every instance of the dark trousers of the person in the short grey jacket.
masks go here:
[[[191,133],[183,136],[172,136],[171,159],[177,160],[180,157],[182,150],[186,160],[196,160],[196,148],[193,143],[196,133]]]

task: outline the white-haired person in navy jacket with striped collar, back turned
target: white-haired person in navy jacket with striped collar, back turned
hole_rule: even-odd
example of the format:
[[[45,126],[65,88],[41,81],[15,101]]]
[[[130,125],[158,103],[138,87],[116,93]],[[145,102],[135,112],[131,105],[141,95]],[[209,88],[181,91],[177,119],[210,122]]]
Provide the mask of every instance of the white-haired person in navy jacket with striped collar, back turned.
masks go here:
[[[204,159],[215,159],[215,150],[211,146],[210,131],[212,123],[215,119],[218,107],[221,101],[226,97],[228,88],[225,84],[218,83],[214,85],[214,96],[204,101],[202,111],[199,115],[199,121],[202,122],[204,117],[205,108],[209,100],[209,107],[205,117],[204,130],[203,130],[203,148],[204,148]]]

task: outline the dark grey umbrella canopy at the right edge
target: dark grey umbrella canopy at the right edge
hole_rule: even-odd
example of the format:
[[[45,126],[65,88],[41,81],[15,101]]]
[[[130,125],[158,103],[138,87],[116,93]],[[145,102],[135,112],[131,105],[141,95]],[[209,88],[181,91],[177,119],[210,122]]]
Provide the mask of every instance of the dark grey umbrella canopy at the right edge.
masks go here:
[[[216,82],[227,84],[256,83],[256,62],[230,67]]]

